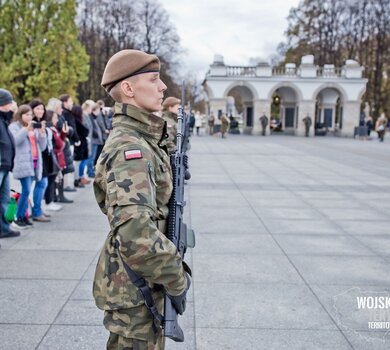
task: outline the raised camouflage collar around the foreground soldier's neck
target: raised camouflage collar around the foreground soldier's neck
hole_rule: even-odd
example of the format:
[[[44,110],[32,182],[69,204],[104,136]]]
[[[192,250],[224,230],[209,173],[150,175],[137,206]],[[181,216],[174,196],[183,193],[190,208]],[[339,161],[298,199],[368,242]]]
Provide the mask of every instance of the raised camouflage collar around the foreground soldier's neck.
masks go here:
[[[113,127],[117,125],[129,126],[145,136],[160,141],[165,133],[165,124],[166,122],[163,118],[133,105],[119,102],[115,103]]]

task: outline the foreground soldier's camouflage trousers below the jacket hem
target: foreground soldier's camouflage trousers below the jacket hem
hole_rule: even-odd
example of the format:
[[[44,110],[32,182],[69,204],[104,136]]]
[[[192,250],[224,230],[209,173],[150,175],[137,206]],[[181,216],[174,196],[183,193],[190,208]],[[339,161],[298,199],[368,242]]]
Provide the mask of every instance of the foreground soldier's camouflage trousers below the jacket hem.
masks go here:
[[[118,334],[111,333],[107,342],[107,350],[164,350],[165,338],[162,333],[155,343],[153,340],[139,340],[125,338]]]

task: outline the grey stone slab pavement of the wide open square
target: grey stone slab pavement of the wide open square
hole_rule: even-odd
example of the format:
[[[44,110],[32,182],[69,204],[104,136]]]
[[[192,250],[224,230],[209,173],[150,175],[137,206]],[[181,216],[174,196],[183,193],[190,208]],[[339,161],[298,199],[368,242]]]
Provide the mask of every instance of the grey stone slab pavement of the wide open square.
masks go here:
[[[389,349],[357,297],[390,295],[390,143],[193,137],[193,288],[167,349]],[[91,188],[0,244],[0,349],[104,349],[91,288],[107,234]]]

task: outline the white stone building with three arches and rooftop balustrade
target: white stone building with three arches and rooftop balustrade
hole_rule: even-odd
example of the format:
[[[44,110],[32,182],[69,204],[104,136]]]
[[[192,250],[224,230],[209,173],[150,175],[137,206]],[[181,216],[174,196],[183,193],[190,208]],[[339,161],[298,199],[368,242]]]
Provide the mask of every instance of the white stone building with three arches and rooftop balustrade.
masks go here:
[[[302,119],[309,115],[314,125],[312,135],[325,131],[351,137],[359,125],[367,85],[362,71],[363,67],[354,60],[347,60],[341,68],[331,64],[318,67],[312,55],[303,56],[298,67],[287,63],[284,68],[272,68],[267,63],[227,66],[223,57],[216,55],[203,88],[208,112],[215,116],[234,115],[232,97],[239,97],[245,133],[260,134],[259,117],[270,117],[271,110],[275,111],[272,107],[278,105],[277,117],[285,133],[303,136]]]

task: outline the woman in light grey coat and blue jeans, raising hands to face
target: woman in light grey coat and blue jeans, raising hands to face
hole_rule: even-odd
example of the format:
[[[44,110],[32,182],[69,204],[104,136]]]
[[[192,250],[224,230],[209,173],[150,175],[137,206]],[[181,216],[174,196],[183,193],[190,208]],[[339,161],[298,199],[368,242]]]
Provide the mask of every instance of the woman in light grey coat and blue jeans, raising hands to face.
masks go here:
[[[29,105],[21,105],[16,111],[14,122],[9,130],[15,140],[15,165],[13,176],[19,179],[22,193],[18,200],[15,224],[19,229],[32,226],[27,218],[28,197],[32,181],[42,179],[42,151],[46,149],[46,122],[33,123],[33,113]]]

